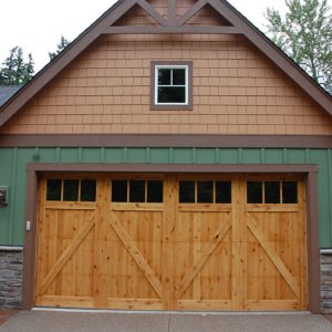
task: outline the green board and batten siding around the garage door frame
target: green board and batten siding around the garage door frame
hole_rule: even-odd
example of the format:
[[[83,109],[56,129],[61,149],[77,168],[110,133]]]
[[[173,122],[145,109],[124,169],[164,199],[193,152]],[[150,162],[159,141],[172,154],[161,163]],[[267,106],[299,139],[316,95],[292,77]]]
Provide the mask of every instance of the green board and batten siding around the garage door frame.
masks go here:
[[[0,209],[0,245],[22,246],[28,163],[317,164],[320,247],[332,247],[332,149],[309,148],[1,148],[0,186],[9,205]],[[12,204],[14,203],[14,204]]]

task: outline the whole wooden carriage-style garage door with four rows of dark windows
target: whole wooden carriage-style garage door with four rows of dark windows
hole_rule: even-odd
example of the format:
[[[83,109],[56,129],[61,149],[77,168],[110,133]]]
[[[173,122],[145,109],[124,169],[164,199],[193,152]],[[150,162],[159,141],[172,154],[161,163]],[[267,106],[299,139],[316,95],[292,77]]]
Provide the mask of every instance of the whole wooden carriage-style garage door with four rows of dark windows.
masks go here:
[[[300,176],[44,175],[35,305],[307,310]]]

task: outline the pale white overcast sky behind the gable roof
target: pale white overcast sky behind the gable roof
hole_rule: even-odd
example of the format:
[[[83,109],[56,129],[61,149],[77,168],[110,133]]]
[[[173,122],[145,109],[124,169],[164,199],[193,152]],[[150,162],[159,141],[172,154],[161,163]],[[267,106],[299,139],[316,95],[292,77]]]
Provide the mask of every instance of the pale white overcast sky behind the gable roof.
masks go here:
[[[332,1],[332,0],[330,0]],[[19,45],[25,60],[31,53],[35,72],[49,62],[61,35],[74,40],[115,0],[2,0],[0,4],[0,66]],[[255,25],[266,31],[267,7],[284,12],[284,0],[229,0]]]

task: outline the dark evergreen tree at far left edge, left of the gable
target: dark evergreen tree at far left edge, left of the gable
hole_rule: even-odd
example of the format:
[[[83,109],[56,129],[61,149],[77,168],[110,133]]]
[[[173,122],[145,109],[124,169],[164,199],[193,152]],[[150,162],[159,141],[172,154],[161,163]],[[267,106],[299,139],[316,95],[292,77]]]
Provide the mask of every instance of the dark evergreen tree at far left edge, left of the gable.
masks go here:
[[[24,62],[23,51],[20,46],[10,50],[10,55],[0,68],[0,85],[23,85],[33,76],[33,60],[31,53]]]

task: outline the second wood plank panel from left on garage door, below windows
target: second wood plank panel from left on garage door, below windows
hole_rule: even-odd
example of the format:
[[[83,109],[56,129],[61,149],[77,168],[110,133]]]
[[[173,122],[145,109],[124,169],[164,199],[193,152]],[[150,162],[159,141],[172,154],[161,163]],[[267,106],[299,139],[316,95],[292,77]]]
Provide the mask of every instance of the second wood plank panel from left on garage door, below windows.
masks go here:
[[[163,212],[156,208],[137,211],[117,206],[115,211],[110,208],[105,219],[107,234],[117,237],[105,267],[108,307],[162,309]]]

